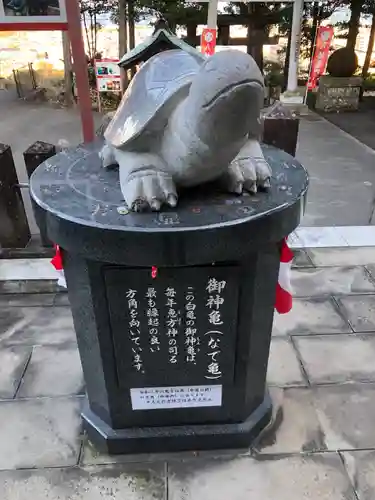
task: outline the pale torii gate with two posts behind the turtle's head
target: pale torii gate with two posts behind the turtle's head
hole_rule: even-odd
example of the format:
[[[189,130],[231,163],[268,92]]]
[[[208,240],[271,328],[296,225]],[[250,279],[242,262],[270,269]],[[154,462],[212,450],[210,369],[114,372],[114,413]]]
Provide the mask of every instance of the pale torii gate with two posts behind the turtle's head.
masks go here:
[[[290,42],[290,62],[289,62],[287,90],[289,92],[295,92],[298,87],[298,61],[300,54],[301,26],[302,26],[304,0],[287,0],[287,1],[293,2],[292,36]],[[199,3],[209,2],[207,28],[216,29],[219,0],[197,0],[197,2]],[[283,2],[283,0],[242,0],[242,2],[276,3],[276,2]]]

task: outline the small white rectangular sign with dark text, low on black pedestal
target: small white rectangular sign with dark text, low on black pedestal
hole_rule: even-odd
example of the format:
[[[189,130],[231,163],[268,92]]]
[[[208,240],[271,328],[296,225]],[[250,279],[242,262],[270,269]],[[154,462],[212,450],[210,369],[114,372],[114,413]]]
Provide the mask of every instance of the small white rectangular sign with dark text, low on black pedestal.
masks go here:
[[[142,387],[130,389],[133,410],[169,410],[221,406],[221,385]]]

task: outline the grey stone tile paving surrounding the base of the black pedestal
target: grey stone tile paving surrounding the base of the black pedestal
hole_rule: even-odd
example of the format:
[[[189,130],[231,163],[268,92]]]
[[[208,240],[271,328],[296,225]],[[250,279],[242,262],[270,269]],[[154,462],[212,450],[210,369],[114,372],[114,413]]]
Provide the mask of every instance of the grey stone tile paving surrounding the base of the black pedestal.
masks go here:
[[[274,419],[254,448],[116,457],[82,435],[66,295],[1,286],[1,500],[373,500],[375,252],[300,251],[292,273],[269,360]]]

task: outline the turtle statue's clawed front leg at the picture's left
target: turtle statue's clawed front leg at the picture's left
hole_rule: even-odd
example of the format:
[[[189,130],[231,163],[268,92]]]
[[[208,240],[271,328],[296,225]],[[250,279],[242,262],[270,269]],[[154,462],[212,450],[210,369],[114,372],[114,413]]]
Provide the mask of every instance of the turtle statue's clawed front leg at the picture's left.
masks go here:
[[[176,186],[163,160],[155,154],[114,149],[119,165],[121,191],[135,211],[158,211],[162,205],[177,205]]]

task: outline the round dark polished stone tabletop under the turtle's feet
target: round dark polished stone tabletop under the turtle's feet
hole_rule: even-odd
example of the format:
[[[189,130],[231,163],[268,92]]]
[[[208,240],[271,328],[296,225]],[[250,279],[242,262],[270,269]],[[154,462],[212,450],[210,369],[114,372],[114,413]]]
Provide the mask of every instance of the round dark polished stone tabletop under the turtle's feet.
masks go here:
[[[211,184],[183,191],[175,209],[146,213],[128,210],[118,169],[101,166],[100,147],[98,142],[66,150],[40,165],[30,180],[37,220],[46,226],[49,238],[94,259],[166,265],[172,258],[172,265],[185,265],[192,260],[200,263],[203,247],[228,258],[233,245],[237,254],[241,244],[248,251],[249,245],[279,241],[293,231],[303,213],[305,169],[269,146],[263,146],[273,172],[268,192],[238,196]],[[215,251],[217,245],[222,250]],[[180,255],[167,257],[171,251]]]

